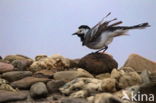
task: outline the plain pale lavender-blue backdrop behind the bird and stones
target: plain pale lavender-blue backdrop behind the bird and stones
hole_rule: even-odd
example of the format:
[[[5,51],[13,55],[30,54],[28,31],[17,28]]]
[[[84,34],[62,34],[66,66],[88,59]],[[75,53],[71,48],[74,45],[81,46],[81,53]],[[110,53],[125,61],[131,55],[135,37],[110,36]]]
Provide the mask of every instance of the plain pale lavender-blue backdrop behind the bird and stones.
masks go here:
[[[94,50],[72,36],[81,24],[94,26],[108,12],[122,25],[149,22],[150,28],[117,37],[107,53],[122,66],[137,53],[156,61],[155,0],[0,0],[0,56],[61,54],[81,58]]]

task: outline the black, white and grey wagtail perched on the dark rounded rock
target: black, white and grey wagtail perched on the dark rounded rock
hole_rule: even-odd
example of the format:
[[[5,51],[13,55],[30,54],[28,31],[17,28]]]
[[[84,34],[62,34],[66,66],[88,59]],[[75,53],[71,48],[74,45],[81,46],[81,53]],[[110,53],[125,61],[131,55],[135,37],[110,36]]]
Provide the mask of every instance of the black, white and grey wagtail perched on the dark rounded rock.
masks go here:
[[[108,17],[111,13],[108,13],[104,18]],[[117,20],[116,18],[110,21],[104,21],[104,18],[97,23],[94,27],[90,28],[87,25],[81,25],[78,31],[73,35],[80,37],[82,45],[87,46],[90,49],[103,50],[105,52],[114,37],[127,35],[126,32],[130,29],[144,29],[149,27],[148,23],[142,23],[134,26],[117,26],[122,21],[110,24],[110,22]]]

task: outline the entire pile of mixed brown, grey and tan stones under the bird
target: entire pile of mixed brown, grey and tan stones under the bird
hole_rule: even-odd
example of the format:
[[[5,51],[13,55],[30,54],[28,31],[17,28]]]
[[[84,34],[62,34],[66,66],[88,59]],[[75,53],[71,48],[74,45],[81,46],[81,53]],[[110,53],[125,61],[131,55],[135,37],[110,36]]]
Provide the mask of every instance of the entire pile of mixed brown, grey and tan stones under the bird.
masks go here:
[[[120,68],[106,53],[0,57],[0,103],[156,103],[155,87],[156,63],[137,54]]]

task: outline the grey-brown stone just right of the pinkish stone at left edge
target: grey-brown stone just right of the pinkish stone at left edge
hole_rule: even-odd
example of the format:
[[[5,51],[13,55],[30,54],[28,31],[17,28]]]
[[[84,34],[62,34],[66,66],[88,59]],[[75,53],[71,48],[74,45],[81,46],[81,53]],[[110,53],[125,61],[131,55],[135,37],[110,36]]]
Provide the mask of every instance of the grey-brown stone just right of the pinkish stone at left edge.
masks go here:
[[[29,66],[33,63],[32,60],[26,59],[26,60],[14,60],[12,61],[12,65],[17,69],[17,70],[27,70]]]

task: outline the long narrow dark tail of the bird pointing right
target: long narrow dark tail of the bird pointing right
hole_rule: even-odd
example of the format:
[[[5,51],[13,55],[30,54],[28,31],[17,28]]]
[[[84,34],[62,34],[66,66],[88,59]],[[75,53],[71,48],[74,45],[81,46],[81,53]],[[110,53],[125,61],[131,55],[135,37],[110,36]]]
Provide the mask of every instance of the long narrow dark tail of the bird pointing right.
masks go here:
[[[138,24],[138,25],[134,25],[134,26],[123,27],[123,29],[144,29],[146,27],[150,27],[150,25],[147,22]]]

